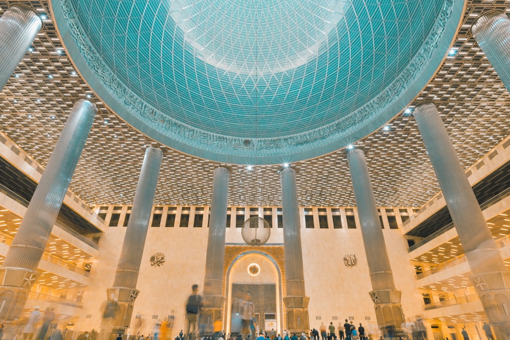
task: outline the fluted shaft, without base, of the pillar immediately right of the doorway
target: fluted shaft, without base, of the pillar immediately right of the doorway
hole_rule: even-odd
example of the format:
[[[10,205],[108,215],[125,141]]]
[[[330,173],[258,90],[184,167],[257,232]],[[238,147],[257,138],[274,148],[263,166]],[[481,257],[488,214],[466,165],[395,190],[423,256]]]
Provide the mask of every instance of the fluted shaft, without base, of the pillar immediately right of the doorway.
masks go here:
[[[303,252],[301,249],[296,172],[292,168],[284,168],[280,172],[280,177],[282,183],[282,214],[287,295],[304,296]]]

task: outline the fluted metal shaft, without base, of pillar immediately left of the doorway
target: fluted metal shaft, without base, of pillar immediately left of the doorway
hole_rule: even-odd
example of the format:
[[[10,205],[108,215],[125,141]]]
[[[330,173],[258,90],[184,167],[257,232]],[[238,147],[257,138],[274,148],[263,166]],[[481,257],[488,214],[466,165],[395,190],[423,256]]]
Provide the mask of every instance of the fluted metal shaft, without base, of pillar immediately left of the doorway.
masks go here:
[[[203,295],[223,294],[223,263],[225,257],[226,206],[229,176],[230,171],[226,168],[218,167],[214,170]]]

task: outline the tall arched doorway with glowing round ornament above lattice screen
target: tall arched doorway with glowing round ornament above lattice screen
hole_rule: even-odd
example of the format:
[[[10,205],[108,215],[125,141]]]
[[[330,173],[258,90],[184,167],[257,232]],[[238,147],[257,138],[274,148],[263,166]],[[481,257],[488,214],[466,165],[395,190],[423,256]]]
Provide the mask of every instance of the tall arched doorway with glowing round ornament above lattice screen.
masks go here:
[[[263,251],[239,254],[228,266],[226,298],[227,333],[249,332],[247,319],[251,316],[258,329],[274,328],[282,334],[282,275],[270,255]]]

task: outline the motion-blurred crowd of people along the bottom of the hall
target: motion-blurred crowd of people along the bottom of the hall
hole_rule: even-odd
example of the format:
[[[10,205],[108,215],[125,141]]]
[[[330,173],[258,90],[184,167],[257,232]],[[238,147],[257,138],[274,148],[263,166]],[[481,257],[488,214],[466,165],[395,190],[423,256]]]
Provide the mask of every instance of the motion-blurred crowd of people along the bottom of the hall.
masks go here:
[[[233,306],[237,307],[237,315],[240,315],[240,320],[237,322],[237,327],[234,327],[234,320],[232,321],[232,334],[225,336],[223,331],[221,318],[217,317],[213,323],[213,327],[205,331],[197,327],[199,311],[202,307],[202,299],[198,295],[198,285],[193,284],[192,293],[188,297],[186,303],[186,323],[185,330],[181,330],[175,338],[172,337],[174,317],[168,316],[166,320],[160,322],[156,321],[151,328],[151,332],[141,334],[136,332],[131,334],[115,334],[113,328],[114,320],[117,318],[118,302],[114,296],[106,302],[103,309],[103,318],[101,320],[101,332],[98,333],[92,329],[85,332],[73,332],[64,330],[57,330],[54,320],[56,318],[55,312],[52,308],[46,308],[44,312],[40,311],[40,307],[36,306],[27,318],[10,323],[9,325],[0,324],[0,340],[374,340],[373,334],[366,331],[362,323],[356,326],[352,320],[345,319],[345,323],[338,325],[338,329],[333,322],[329,325],[321,323],[319,329],[312,328],[310,331],[290,334],[284,330],[283,334],[277,334],[274,329],[264,331],[259,329],[259,325],[253,316],[254,306],[251,302],[251,295],[247,292],[241,292],[236,296],[236,303]],[[173,312],[173,311],[172,311]],[[138,325],[140,326],[140,325]],[[136,327],[141,329],[141,327]],[[488,340],[494,340],[490,325],[486,322],[483,323],[483,331],[486,333]],[[385,337],[406,340],[427,340],[426,328],[423,321],[417,318],[415,322],[402,323],[399,329],[389,327],[384,330]],[[201,336],[200,336],[201,335]],[[469,334],[463,328],[462,335],[464,340],[469,340]],[[382,339],[382,336],[379,336]],[[448,338],[447,338],[448,340]]]

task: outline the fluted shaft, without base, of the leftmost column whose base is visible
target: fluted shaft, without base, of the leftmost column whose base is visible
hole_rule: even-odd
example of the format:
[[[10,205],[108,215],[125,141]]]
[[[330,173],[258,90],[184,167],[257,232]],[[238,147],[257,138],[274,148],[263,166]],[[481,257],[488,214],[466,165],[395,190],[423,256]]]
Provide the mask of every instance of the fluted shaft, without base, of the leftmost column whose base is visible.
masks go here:
[[[90,101],[74,104],[2,268],[37,269],[96,112]]]

